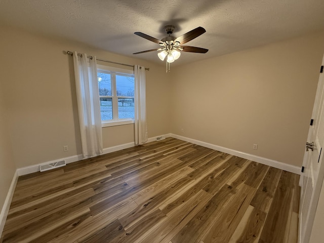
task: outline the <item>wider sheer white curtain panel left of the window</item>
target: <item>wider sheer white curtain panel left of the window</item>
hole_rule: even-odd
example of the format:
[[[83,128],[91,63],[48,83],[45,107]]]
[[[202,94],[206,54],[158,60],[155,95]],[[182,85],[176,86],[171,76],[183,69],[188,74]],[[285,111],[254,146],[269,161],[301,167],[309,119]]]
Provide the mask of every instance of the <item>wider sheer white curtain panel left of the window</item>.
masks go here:
[[[102,153],[102,129],[96,57],[73,53],[77,109],[84,158]]]

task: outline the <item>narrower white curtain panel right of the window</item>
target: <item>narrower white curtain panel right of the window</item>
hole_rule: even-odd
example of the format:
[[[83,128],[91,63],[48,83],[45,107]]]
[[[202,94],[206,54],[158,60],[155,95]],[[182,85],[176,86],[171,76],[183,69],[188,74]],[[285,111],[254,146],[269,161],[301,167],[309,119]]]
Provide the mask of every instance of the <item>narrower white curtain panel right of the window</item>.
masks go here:
[[[145,99],[145,67],[134,66],[135,74],[135,144],[147,141],[146,99]]]

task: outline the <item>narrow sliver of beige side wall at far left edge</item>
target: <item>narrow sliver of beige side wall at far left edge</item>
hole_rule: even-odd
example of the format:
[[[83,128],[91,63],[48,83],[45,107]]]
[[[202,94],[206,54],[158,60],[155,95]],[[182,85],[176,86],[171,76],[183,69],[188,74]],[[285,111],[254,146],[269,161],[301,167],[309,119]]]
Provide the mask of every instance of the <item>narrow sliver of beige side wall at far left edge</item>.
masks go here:
[[[2,71],[3,69],[0,67],[0,73]],[[0,83],[0,210],[4,206],[11,181],[16,171],[8,130],[6,105],[3,97],[3,89]]]

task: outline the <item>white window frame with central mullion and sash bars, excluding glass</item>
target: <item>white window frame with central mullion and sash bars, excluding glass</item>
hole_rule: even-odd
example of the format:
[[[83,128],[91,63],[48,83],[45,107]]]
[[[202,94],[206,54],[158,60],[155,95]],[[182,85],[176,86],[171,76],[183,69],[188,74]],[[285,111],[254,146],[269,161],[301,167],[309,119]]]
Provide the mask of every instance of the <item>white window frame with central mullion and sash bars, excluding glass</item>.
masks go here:
[[[111,96],[101,96],[99,94],[99,98],[111,98],[112,99],[112,119],[111,120],[101,120],[101,127],[104,128],[104,127],[134,124],[133,118],[125,118],[125,119],[118,118],[118,98],[134,99],[135,97],[134,96],[117,96],[116,78],[115,78],[116,75],[120,75],[120,74],[125,75],[125,76],[134,77],[134,70],[97,64],[97,72],[110,74],[110,78],[111,78],[110,79],[110,81],[111,81]],[[135,78],[134,78],[134,89],[135,89]],[[98,87],[98,93],[99,93],[99,87]],[[136,104],[134,103],[134,108],[135,108],[135,105]]]

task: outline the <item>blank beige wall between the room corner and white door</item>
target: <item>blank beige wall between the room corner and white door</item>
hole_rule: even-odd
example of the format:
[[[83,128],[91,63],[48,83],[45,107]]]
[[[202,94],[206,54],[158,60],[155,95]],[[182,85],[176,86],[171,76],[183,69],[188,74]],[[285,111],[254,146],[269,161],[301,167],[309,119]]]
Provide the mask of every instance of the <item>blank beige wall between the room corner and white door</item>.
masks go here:
[[[172,133],[301,166],[323,50],[320,32],[174,68]]]

